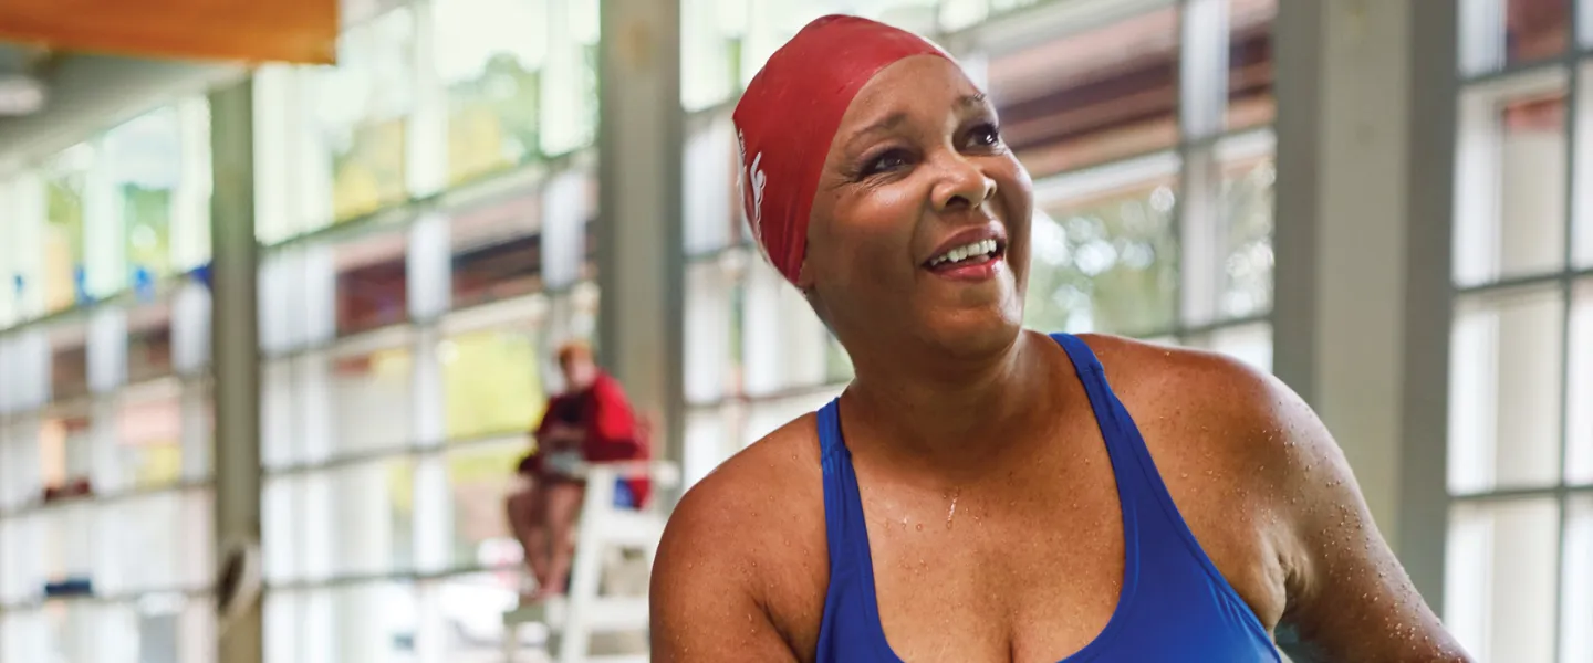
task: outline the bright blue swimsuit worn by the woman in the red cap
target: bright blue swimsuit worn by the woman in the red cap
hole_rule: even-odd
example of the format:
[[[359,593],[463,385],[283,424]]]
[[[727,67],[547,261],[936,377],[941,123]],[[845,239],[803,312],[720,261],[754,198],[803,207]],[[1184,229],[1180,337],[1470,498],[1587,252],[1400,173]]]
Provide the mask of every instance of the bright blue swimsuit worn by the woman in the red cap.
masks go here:
[[[1251,607],[1201,550],[1172,506],[1139,428],[1112,393],[1082,340],[1053,335],[1067,350],[1094,409],[1123,509],[1123,590],[1106,630],[1063,663],[1184,661],[1278,663],[1278,650]],[[830,590],[819,626],[819,663],[900,663],[875,598],[863,506],[852,453],[841,439],[836,402],[819,410],[824,518]]]

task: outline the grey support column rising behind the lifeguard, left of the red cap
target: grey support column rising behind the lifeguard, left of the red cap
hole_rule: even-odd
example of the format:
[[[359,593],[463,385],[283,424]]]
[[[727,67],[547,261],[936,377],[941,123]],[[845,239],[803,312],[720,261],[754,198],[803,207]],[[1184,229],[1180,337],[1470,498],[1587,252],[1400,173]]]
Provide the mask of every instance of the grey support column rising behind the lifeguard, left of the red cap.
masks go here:
[[[680,0],[602,0],[597,283],[602,364],[661,417],[655,453],[683,434]]]

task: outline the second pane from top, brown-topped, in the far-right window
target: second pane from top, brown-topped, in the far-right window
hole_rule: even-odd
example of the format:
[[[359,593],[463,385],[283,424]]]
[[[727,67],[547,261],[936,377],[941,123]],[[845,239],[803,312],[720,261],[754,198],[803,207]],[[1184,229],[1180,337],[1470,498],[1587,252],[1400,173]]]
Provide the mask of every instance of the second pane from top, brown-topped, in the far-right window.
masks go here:
[[[1459,285],[1564,267],[1566,149],[1563,75],[1466,92],[1456,154]]]

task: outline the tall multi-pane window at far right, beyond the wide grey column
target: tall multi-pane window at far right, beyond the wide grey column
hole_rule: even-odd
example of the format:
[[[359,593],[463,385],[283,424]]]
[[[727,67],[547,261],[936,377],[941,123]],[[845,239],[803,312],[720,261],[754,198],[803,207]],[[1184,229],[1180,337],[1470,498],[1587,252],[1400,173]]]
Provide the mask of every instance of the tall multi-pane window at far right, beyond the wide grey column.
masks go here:
[[[1445,618],[1480,660],[1593,652],[1593,197],[1571,180],[1593,157],[1593,97],[1572,81],[1590,62],[1569,49],[1571,2],[1461,3]]]

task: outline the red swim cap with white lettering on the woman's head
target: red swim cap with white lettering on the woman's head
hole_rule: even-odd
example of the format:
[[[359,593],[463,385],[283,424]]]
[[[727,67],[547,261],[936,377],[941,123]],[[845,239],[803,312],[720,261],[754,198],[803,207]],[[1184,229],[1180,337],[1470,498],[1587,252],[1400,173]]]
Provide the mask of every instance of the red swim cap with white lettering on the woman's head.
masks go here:
[[[945,51],[857,16],[825,16],[774,51],[736,103],[741,205],[752,237],[787,280],[808,250],[808,215],[841,116],[879,70]]]

